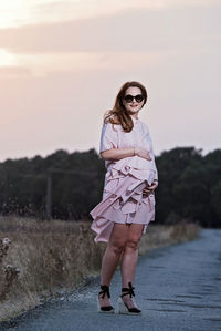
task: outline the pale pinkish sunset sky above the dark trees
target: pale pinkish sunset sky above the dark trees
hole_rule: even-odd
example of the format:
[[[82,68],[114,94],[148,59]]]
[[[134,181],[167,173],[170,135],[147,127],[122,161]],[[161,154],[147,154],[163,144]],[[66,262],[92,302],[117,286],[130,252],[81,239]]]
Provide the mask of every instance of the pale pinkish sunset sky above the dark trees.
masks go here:
[[[0,0],[0,162],[98,152],[133,80],[156,155],[221,148],[220,17],[215,0]]]

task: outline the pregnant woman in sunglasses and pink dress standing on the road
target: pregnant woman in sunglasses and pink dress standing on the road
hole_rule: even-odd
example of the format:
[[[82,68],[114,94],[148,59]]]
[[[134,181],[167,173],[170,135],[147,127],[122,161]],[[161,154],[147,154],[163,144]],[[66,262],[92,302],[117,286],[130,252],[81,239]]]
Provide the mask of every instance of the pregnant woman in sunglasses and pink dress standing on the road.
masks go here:
[[[139,82],[127,82],[119,90],[114,108],[104,118],[99,155],[105,159],[102,201],[90,213],[95,241],[108,242],[102,261],[98,311],[114,312],[109,301],[112,277],[120,259],[122,294],[118,313],[140,314],[133,300],[138,242],[155,219],[155,188],[158,174],[151,138],[138,118],[147,102]]]

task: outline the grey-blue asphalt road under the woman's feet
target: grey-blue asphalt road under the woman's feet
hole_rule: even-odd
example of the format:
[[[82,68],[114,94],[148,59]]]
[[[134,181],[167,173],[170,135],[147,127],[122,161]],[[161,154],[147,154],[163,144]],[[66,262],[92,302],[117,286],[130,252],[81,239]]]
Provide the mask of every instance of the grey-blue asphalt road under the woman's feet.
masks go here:
[[[221,230],[203,230],[199,239],[156,249],[141,257],[136,273],[136,301],[143,316],[96,311],[99,280],[64,298],[0,324],[19,331],[221,330]],[[115,304],[120,276],[113,279]]]

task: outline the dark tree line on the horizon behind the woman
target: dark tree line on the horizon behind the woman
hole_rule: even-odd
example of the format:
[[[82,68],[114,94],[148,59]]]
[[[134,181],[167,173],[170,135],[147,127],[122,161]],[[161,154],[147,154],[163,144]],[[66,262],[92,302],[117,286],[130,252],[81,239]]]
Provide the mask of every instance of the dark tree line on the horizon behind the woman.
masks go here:
[[[201,149],[176,147],[157,156],[156,164],[157,223],[221,226],[221,149],[202,156]],[[105,173],[95,149],[7,159],[0,163],[0,214],[45,219],[50,195],[53,218],[86,219],[102,199]]]

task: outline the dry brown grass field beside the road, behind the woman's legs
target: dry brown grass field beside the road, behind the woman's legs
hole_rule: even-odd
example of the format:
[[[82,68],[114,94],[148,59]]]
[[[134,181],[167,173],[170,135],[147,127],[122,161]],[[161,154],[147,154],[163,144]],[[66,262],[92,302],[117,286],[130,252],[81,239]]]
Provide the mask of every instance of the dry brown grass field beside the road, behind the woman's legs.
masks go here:
[[[94,242],[90,226],[88,221],[0,218],[0,238],[11,241],[0,248],[0,321],[73,290],[88,275],[98,275],[106,245]],[[139,252],[192,239],[198,231],[187,224],[149,226]],[[7,266],[11,266],[8,276]]]

